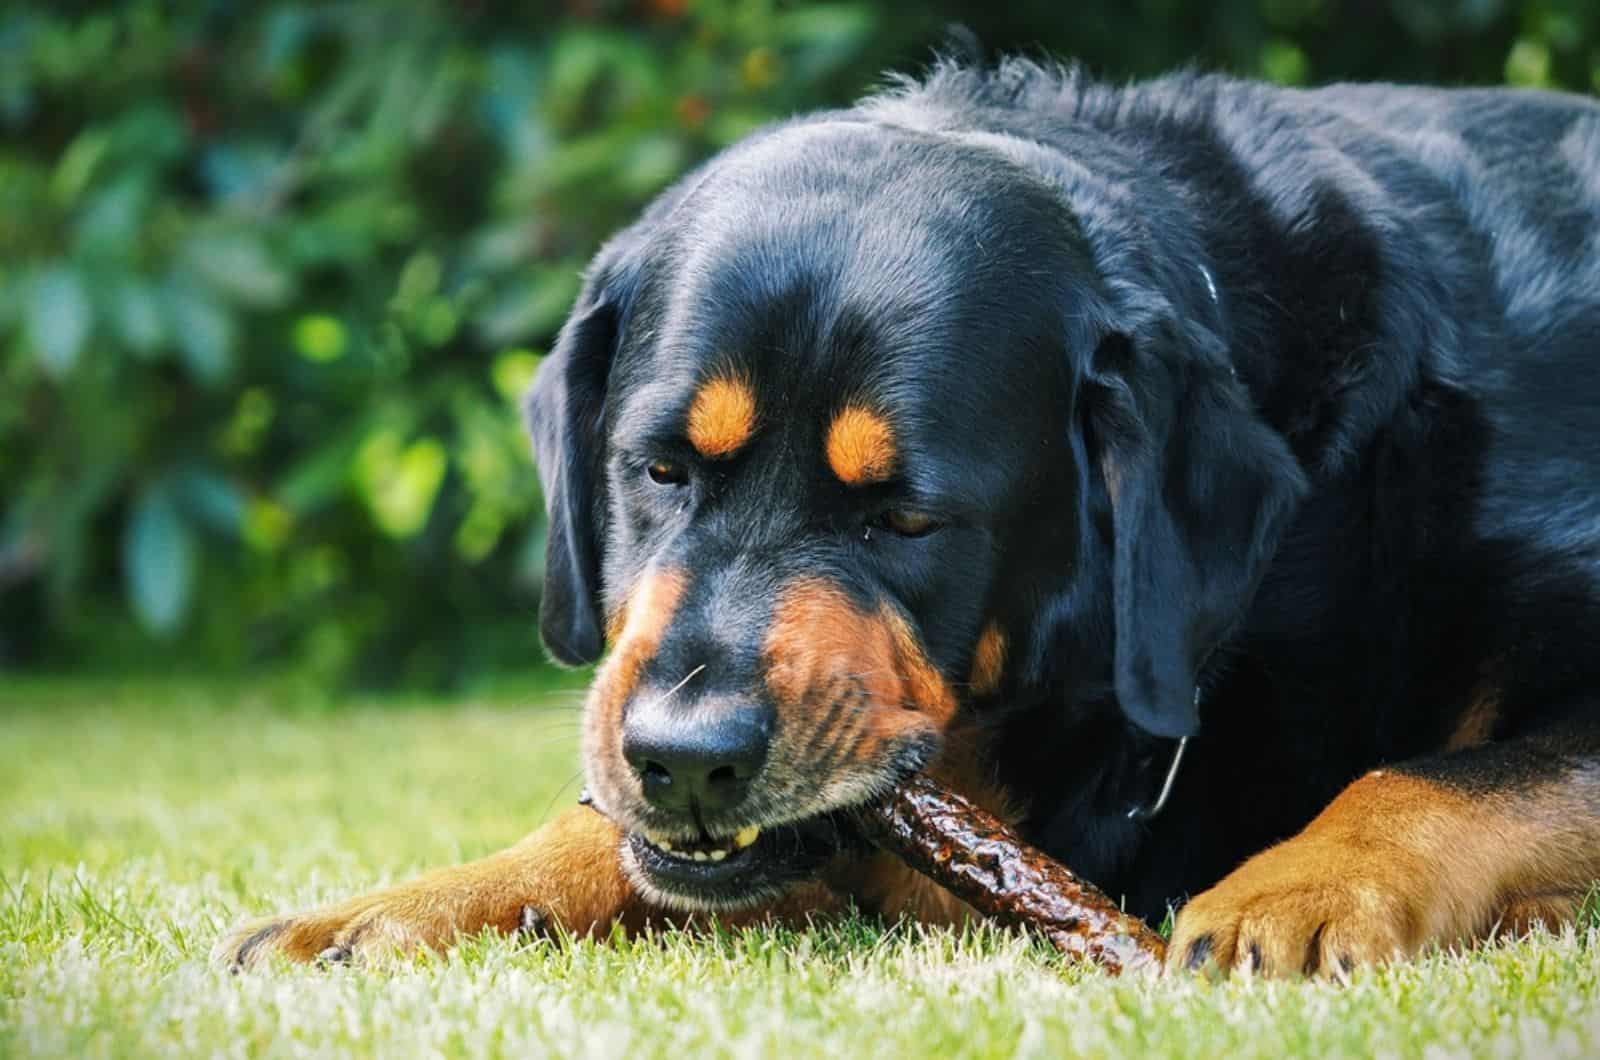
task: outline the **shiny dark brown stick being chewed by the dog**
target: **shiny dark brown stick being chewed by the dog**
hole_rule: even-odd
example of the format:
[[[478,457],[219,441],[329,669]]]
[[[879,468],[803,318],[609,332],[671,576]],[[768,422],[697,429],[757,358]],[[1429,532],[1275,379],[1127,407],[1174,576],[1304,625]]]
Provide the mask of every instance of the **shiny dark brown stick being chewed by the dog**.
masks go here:
[[[867,836],[984,916],[1048,938],[1114,975],[1155,974],[1166,942],[1005,821],[925,777],[864,815]]]

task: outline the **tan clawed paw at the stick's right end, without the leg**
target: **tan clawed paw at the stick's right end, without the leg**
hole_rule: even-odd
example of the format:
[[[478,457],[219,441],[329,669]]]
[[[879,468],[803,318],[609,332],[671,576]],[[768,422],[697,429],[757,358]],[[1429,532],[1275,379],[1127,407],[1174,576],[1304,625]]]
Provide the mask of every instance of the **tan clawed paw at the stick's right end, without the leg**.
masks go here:
[[[1424,940],[1419,860],[1301,836],[1258,853],[1178,914],[1168,970],[1248,970],[1342,978],[1410,956]]]

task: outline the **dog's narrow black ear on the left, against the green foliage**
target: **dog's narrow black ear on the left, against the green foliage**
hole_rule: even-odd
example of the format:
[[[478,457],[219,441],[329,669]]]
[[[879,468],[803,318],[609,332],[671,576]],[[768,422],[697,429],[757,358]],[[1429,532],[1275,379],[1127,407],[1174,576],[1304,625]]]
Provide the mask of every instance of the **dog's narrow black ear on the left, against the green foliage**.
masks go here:
[[[571,315],[523,400],[547,516],[539,634],[568,666],[605,648],[600,546],[605,540],[605,400],[621,320],[632,295],[637,231],[616,237],[589,266]]]

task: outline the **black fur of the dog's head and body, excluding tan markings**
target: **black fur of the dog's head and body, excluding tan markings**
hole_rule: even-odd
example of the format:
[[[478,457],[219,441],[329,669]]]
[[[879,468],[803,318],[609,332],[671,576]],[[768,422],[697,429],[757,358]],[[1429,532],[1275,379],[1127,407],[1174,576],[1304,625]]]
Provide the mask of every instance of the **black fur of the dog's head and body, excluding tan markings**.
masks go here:
[[[1158,916],[1379,762],[1515,783],[1562,725],[1600,770],[1597,347],[1590,101],[941,64],[744,141],[602,253],[530,402],[546,640],[598,655],[662,556],[725,564],[664,673],[797,572],[894,600],[955,679],[998,616],[995,773]],[[694,460],[730,359],[763,426],[664,503],[638,469]],[[867,492],[818,456],[854,392],[906,424]],[[894,504],[944,528],[874,538]],[[749,682],[726,652],[710,681]],[[1426,757],[1485,689],[1498,746]]]

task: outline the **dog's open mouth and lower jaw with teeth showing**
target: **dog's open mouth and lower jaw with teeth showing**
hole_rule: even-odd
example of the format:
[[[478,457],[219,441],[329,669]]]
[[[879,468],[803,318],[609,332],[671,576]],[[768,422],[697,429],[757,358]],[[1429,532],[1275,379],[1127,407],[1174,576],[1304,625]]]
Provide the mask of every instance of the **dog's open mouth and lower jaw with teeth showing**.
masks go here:
[[[680,909],[736,909],[770,901],[856,844],[850,815],[834,810],[694,839],[630,831],[622,849],[646,897]]]

